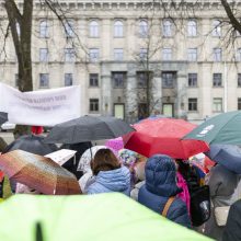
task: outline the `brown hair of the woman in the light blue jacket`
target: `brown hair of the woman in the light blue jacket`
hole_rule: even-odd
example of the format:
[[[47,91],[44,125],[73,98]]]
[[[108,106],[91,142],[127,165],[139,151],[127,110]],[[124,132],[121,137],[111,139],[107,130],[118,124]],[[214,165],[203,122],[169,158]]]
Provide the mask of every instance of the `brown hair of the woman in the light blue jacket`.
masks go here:
[[[100,149],[91,161],[94,175],[100,171],[111,171],[120,168],[120,162],[110,149]]]

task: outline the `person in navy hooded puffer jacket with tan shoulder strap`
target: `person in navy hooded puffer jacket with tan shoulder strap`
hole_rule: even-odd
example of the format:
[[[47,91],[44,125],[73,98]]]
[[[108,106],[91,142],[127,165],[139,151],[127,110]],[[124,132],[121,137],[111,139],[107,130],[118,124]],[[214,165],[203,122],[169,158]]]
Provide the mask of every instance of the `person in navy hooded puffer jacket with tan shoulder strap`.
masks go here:
[[[176,185],[174,160],[165,154],[154,154],[145,167],[146,184],[140,187],[138,202],[162,215],[170,198],[173,200],[167,210],[167,218],[191,228],[186,204],[176,195],[182,192]]]

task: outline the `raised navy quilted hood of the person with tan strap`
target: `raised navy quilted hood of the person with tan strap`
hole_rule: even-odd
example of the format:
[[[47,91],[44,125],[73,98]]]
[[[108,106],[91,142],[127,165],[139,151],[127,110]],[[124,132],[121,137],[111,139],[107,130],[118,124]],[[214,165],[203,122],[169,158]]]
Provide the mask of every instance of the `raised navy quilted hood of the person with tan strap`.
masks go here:
[[[146,187],[159,196],[175,196],[182,192],[176,185],[174,161],[164,154],[154,154],[148,159],[146,168]]]

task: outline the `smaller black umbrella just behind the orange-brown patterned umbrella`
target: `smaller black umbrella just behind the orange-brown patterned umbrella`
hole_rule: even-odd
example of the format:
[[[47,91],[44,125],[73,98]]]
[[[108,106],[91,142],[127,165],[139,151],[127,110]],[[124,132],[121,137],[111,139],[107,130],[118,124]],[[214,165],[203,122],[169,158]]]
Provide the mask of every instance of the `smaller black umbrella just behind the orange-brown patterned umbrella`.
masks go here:
[[[43,136],[24,135],[11,142],[3,152],[13,150],[24,150],[34,154],[45,156],[58,150],[58,148],[56,145],[45,144]]]

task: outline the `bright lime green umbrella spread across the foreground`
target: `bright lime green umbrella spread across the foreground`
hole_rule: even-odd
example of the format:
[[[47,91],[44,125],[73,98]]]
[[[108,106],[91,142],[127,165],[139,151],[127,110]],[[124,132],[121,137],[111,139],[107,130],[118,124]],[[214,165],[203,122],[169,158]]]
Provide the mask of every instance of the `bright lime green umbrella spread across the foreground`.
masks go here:
[[[0,204],[0,217],[4,241],[209,240],[117,193],[15,195]]]

